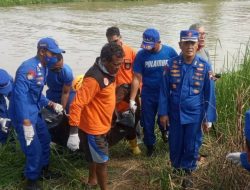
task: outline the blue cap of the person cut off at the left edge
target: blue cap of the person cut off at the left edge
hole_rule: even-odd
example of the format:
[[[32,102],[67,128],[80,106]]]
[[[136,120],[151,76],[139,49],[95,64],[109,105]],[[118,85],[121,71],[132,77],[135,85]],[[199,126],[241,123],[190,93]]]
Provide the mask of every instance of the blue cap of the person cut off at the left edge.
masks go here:
[[[12,90],[10,75],[3,69],[0,69],[0,94],[8,95]]]

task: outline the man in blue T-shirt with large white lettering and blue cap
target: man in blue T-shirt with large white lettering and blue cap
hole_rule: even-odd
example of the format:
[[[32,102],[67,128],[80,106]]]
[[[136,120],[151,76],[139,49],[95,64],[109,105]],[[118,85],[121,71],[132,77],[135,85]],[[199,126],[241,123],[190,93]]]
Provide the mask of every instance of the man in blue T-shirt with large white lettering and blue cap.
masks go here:
[[[160,34],[154,28],[148,28],[144,31],[141,47],[133,66],[130,108],[136,109],[135,97],[142,82],[141,126],[143,127],[143,141],[147,147],[147,156],[150,157],[153,154],[156,141],[154,126],[163,67],[166,66],[168,59],[177,56],[177,53],[170,46],[161,44]],[[160,126],[159,119],[158,125]],[[160,130],[166,141],[166,130],[162,126],[160,126]]]

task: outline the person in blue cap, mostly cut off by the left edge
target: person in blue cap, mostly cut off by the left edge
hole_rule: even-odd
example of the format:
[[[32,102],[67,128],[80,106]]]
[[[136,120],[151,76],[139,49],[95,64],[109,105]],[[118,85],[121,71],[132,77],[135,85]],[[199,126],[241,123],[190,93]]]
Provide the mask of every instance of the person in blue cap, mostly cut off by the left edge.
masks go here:
[[[0,69],[0,143],[7,141],[10,119],[6,98],[10,97],[13,78],[3,69]]]

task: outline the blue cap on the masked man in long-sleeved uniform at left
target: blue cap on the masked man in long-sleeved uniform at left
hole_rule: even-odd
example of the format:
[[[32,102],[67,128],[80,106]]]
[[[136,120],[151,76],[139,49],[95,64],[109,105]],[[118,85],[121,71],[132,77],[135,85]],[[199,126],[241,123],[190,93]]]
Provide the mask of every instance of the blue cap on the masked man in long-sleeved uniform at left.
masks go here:
[[[38,44],[37,44],[37,49],[47,49],[49,51],[51,51],[52,53],[65,53],[65,51],[61,48],[59,48],[58,43],[56,40],[54,40],[53,38],[42,38],[39,40]]]

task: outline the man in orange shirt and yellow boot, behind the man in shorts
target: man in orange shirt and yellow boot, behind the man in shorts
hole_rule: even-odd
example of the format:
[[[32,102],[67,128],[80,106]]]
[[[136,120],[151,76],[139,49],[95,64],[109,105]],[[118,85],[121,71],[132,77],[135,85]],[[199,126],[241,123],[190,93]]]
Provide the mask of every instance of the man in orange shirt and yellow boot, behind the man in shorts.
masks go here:
[[[133,48],[129,47],[128,45],[124,44],[122,41],[122,37],[120,34],[120,30],[116,26],[109,27],[106,30],[106,37],[108,42],[115,42],[117,45],[120,45],[125,53],[123,63],[116,75],[116,109],[115,109],[115,117],[118,117],[118,122],[116,122],[111,132],[108,136],[109,145],[116,144],[119,140],[126,137],[129,141],[130,149],[132,150],[134,155],[138,155],[141,153],[139,146],[137,145],[136,139],[136,125],[140,119],[140,109],[137,109],[135,113],[135,124],[130,126],[129,120],[128,125],[124,125],[119,123],[119,116],[122,113],[127,113],[129,110],[129,94],[131,90],[131,82],[133,78],[133,63],[135,59],[136,52]],[[121,93],[120,93],[121,92]],[[127,95],[126,95],[127,94]],[[128,97],[126,100],[126,96]],[[139,97],[137,96],[137,105],[139,104]],[[133,116],[134,117],[134,116]]]

